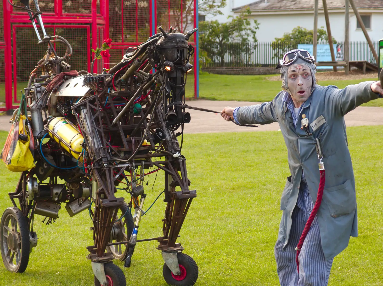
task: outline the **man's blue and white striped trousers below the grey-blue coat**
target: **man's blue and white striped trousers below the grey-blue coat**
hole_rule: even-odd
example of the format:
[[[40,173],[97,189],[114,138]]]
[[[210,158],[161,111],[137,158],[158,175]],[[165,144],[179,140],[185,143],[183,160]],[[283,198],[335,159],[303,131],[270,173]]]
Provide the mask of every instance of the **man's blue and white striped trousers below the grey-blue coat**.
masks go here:
[[[326,260],[321,245],[318,218],[315,218],[304,240],[299,254],[299,273],[296,269],[296,250],[309,213],[295,207],[288,244],[283,249],[284,241],[275,244],[275,260],[281,286],[326,286],[334,258]]]

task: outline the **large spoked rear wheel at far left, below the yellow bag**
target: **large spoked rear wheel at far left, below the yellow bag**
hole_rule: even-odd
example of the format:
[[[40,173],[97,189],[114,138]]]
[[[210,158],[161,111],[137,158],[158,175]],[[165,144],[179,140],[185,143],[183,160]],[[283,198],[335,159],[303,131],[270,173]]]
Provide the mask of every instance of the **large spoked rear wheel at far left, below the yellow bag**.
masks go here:
[[[0,223],[0,250],[5,267],[22,273],[29,260],[29,229],[23,213],[16,207],[4,211]]]

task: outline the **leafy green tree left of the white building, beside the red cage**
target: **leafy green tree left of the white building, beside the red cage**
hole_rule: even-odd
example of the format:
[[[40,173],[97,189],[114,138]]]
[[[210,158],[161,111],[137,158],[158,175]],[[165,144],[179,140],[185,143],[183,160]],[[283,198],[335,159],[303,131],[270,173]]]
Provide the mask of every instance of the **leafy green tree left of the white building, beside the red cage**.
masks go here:
[[[255,33],[259,29],[259,23],[254,20],[254,26],[247,18],[251,14],[250,9],[242,11],[240,15],[229,16],[230,21],[219,23],[214,21],[201,21],[200,24],[200,46],[205,50],[210,59],[219,58],[221,66],[225,65],[225,55],[233,58],[240,56],[246,49],[244,44],[250,41],[257,42]]]

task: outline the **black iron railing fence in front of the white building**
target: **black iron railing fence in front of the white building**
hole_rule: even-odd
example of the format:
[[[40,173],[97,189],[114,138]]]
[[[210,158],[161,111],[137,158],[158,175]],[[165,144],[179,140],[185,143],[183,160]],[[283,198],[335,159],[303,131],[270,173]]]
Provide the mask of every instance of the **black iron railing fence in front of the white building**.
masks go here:
[[[271,42],[249,42],[247,44],[200,44],[202,67],[275,67],[289,50],[298,48],[300,43],[273,44]],[[308,43],[309,44],[309,43]],[[328,44],[321,42],[318,44]],[[378,50],[378,42],[373,42]],[[367,42],[349,42],[349,60],[365,60],[376,65]],[[344,42],[338,42],[336,59],[344,60]],[[201,56],[202,55],[202,56]],[[205,57],[203,56],[205,55]]]

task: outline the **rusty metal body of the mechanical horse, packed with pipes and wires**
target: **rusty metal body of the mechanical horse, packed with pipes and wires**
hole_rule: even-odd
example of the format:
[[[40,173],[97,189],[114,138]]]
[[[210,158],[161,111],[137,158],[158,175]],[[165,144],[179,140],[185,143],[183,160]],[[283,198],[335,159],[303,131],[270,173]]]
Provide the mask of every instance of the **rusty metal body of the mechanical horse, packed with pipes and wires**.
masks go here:
[[[33,13],[38,15],[37,2],[35,5],[37,12]],[[92,11],[95,11],[93,5]],[[34,30],[47,50],[29,75],[19,107],[31,126],[36,166],[22,172],[16,191],[9,193],[14,206],[15,198],[19,200],[31,245],[36,246],[34,241],[37,241],[37,234],[33,232],[34,214],[45,216],[49,224],[58,218],[62,203],[66,204],[70,216],[88,208],[94,244],[87,247],[90,252],[87,258],[93,263],[118,258],[125,260],[125,267],[129,267],[136,243],[154,240],[137,240],[141,215],[145,214],[145,170],[154,168],[152,172],[162,170],[165,175],[166,208],[162,236],[155,238],[159,242],[157,249],[162,253],[181,252],[184,248],[176,240],[191,201],[196,197],[196,190],[189,190],[186,159],[181,150],[183,126],[190,122],[190,114],[185,112],[185,85],[187,73],[193,69],[190,60],[195,56],[195,48],[188,40],[198,29],[182,34],[175,33],[173,27],[168,33],[159,27],[160,33],[126,50],[123,59],[112,68],[89,73],[70,72],[67,62],[73,49],[69,42],[56,34],[48,37],[42,21],[39,24],[43,37],[38,29]],[[13,25],[13,35],[16,28],[27,26]],[[77,26],[83,27],[72,28]],[[46,27],[56,29],[61,25]],[[62,57],[57,54],[57,43],[66,46]],[[181,132],[175,133],[178,128]],[[51,138],[44,143],[47,136]],[[181,136],[181,144],[178,136]],[[65,184],[57,184],[58,178]],[[115,196],[119,182],[124,179],[126,187],[122,190],[130,194],[130,210],[132,206],[135,209],[129,237],[123,237],[122,233],[131,212],[128,207],[118,218],[118,211],[127,204],[124,197]],[[125,220],[123,224],[119,223],[121,219]],[[130,231],[128,224],[126,227]],[[112,245],[125,245],[126,252],[117,255],[110,248]],[[8,253],[7,244],[1,246],[2,255]],[[177,264],[175,256],[172,257],[172,262],[165,263],[171,265],[175,275],[180,275],[180,270],[172,266]],[[97,279],[105,284],[105,273],[100,273],[99,267],[93,268]]]

